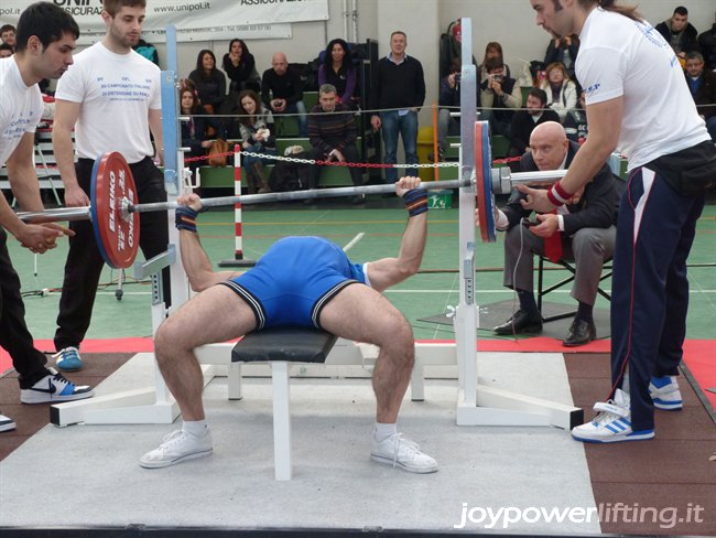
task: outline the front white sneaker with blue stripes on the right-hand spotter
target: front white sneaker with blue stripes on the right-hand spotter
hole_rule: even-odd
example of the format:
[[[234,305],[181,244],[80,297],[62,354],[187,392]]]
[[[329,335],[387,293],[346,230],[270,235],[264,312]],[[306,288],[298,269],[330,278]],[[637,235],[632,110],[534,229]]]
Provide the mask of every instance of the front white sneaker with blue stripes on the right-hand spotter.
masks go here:
[[[572,429],[572,437],[588,443],[616,443],[619,441],[644,441],[654,437],[654,430],[631,430],[629,395],[617,389],[614,399],[594,405],[597,416]]]

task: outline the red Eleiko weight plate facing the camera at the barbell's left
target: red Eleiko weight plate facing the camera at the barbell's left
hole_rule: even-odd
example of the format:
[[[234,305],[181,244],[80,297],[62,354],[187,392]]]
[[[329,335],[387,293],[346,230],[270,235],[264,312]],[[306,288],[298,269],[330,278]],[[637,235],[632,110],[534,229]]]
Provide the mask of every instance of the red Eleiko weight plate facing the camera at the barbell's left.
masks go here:
[[[122,214],[121,202],[137,204],[137,187],[120,153],[105,153],[95,161],[89,198],[99,252],[115,269],[130,267],[139,249],[139,213]]]

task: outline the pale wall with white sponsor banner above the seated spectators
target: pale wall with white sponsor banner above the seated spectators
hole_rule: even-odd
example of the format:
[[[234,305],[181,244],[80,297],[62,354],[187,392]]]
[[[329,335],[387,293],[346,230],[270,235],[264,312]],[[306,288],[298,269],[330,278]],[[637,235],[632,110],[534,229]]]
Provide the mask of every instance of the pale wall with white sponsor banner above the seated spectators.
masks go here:
[[[31,0],[0,0],[0,24],[15,23]],[[48,0],[70,10],[83,32],[83,42],[104,33],[100,0]],[[669,19],[673,0],[637,0],[641,12],[657,24]],[[699,32],[714,22],[714,0],[690,0],[688,19]],[[416,9],[420,7],[420,9]],[[275,52],[285,52],[289,62],[315,58],[334,37],[352,39],[352,0],[148,0],[143,36],[155,43],[165,67],[164,28],[175,23],[178,31],[178,72],[187,76],[196,67],[202,49],[210,49],[220,63],[229,40],[246,40],[261,74],[271,66]],[[505,60],[519,74],[523,61],[543,60],[549,35],[534,24],[529,0],[356,0],[358,41],[377,40],[379,54],[389,52],[390,33],[408,33],[408,54],[423,63],[427,97],[437,99],[437,51],[441,32],[460,18],[473,19],[474,55],[480,62],[485,45],[499,41]],[[82,46],[79,47],[82,49]],[[421,114],[421,126],[430,125],[431,111]]]

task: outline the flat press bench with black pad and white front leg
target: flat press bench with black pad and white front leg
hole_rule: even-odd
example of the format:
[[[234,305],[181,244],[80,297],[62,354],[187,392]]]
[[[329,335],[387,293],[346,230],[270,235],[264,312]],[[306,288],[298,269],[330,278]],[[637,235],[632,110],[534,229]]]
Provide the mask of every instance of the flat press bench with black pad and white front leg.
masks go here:
[[[337,336],[310,327],[274,327],[249,333],[231,349],[232,363],[269,363],[273,386],[275,480],[292,476],[289,363],[325,363]]]

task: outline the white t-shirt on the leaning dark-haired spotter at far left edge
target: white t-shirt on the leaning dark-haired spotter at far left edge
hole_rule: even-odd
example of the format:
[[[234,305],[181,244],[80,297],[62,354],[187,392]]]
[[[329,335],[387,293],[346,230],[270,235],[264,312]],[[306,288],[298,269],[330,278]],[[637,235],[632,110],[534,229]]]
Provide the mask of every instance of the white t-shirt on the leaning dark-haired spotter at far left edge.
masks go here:
[[[25,85],[14,57],[0,60],[0,166],[25,132],[35,132],[42,108],[40,87]]]

